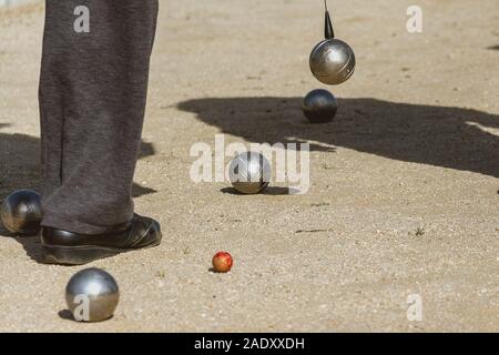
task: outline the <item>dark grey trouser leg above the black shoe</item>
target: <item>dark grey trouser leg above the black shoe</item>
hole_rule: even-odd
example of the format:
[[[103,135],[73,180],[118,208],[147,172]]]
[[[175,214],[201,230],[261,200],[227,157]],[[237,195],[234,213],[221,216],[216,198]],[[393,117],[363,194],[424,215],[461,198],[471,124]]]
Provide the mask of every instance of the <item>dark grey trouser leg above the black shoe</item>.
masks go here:
[[[45,0],[40,77],[43,226],[125,227],[157,0]]]

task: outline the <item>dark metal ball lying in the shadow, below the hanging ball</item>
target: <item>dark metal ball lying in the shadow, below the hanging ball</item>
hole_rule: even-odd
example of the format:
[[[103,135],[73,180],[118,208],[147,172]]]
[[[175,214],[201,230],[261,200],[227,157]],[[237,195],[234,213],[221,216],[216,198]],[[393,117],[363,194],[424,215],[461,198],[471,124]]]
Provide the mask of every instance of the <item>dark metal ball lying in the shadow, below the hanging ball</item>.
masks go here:
[[[327,90],[313,90],[303,99],[302,110],[310,123],[330,122],[338,111],[338,100]]]

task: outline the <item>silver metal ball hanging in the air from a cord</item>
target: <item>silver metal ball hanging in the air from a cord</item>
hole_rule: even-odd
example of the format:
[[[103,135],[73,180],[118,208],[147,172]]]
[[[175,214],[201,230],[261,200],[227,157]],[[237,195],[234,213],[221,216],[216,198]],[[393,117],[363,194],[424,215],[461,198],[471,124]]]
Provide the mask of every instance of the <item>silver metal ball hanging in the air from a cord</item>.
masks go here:
[[[344,41],[328,39],[319,42],[310,53],[314,77],[327,85],[347,81],[355,71],[354,50]]]

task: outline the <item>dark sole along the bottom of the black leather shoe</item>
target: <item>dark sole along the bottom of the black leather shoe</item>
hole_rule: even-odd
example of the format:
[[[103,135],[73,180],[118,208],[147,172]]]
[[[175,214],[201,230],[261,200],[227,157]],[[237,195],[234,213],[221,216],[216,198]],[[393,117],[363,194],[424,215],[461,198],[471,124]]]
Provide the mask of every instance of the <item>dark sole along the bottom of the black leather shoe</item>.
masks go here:
[[[160,245],[157,243],[141,248],[113,248],[103,246],[55,246],[42,245],[42,263],[57,265],[84,265],[100,258],[115,256],[118,254],[145,250]]]

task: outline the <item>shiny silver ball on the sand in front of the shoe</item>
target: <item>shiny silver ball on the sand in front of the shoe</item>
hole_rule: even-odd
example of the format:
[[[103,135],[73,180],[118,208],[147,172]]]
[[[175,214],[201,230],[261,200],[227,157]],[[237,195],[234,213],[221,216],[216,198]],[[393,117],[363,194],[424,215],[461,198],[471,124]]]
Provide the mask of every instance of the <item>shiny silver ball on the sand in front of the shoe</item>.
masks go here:
[[[75,273],[65,286],[65,302],[78,322],[101,322],[113,316],[120,291],[113,276],[100,268]]]

